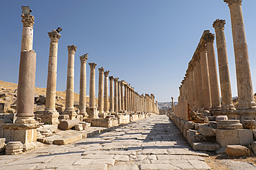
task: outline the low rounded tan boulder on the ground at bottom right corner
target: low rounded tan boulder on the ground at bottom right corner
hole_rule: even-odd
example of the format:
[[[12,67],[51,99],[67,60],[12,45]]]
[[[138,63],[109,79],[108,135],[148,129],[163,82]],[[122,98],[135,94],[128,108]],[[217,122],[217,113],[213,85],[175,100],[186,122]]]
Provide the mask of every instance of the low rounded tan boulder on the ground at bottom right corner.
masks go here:
[[[248,148],[241,145],[227,145],[225,152],[228,156],[246,156],[248,155]]]

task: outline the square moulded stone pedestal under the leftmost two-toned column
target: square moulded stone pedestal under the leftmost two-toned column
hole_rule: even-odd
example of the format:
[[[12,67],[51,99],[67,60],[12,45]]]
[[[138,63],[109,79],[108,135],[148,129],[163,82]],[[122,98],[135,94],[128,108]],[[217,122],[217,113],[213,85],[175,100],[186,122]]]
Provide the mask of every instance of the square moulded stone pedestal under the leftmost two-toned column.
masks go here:
[[[37,123],[2,123],[6,142],[21,141],[23,144],[37,141]]]

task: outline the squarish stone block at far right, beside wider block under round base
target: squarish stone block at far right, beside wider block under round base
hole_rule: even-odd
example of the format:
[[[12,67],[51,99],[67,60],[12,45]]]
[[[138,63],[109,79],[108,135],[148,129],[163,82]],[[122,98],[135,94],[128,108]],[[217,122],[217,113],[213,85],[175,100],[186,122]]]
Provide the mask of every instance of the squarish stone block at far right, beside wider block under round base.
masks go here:
[[[252,129],[238,129],[239,145],[248,146],[253,142],[253,130]]]

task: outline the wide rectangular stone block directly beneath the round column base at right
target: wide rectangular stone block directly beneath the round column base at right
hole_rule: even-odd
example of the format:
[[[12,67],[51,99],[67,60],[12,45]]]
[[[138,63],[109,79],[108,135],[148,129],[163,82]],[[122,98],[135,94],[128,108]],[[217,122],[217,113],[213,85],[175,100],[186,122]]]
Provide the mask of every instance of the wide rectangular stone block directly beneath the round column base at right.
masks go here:
[[[216,129],[216,141],[221,147],[227,145],[239,145],[239,133],[237,129]]]

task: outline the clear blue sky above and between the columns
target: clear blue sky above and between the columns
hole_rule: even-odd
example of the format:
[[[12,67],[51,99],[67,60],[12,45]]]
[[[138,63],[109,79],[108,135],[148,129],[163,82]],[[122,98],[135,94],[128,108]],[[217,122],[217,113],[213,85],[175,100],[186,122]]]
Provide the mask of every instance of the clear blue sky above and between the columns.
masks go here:
[[[170,101],[173,96],[176,101],[179,85],[203,30],[214,33],[212,23],[216,19],[225,19],[232,96],[237,96],[230,10],[223,0],[0,1],[1,81],[18,81],[23,27],[21,6],[30,6],[35,17],[33,50],[37,52],[36,87],[46,87],[50,44],[47,32],[61,27],[58,91],[66,89],[66,46],[74,44],[77,46],[75,92],[79,93],[79,56],[89,53],[87,63],[97,63],[96,89],[98,67],[104,67],[110,70],[109,76],[131,83],[139,94],[155,94],[159,102]],[[242,2],[254,92],[255,8],[255,0]],[[217,55],[216,48],[215,53]],[[86,94],[89,94],[89,72],[87,64]]]

